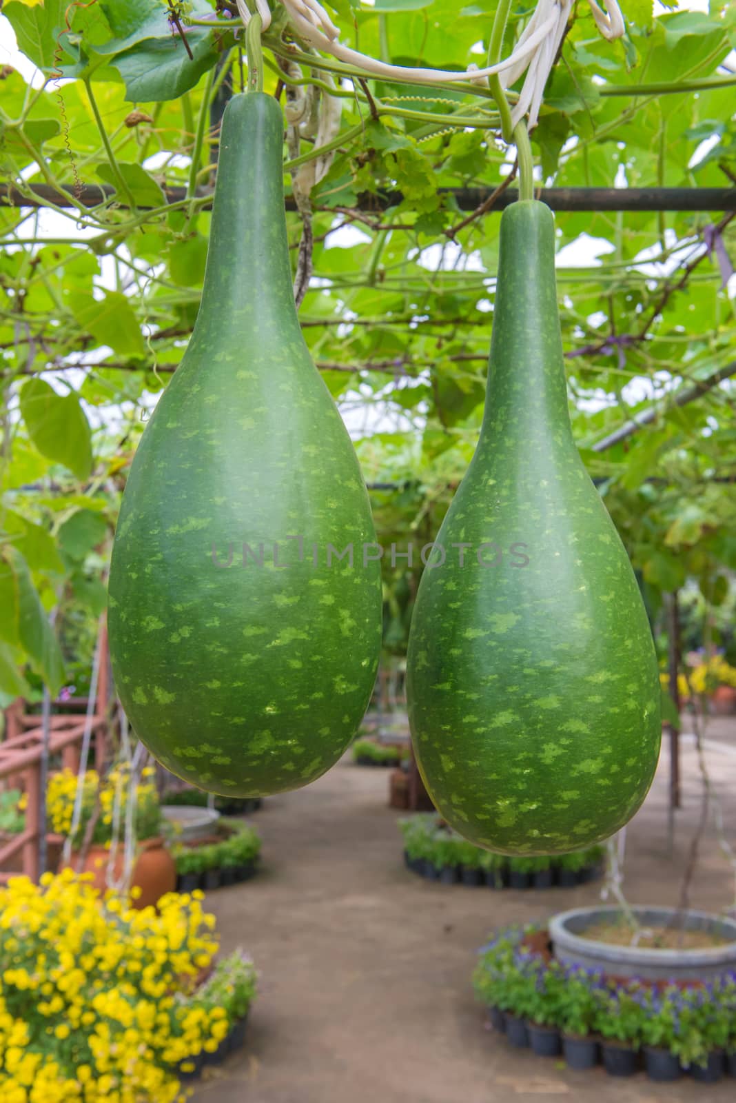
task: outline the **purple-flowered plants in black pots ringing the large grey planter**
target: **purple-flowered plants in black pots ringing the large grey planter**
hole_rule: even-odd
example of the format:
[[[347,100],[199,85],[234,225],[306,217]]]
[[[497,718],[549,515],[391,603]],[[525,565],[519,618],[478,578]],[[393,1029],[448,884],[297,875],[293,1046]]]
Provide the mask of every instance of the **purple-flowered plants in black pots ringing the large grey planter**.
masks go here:
[[[563,965],[548,945],[539,928],[509,928],[479,951],[476,994],[512,1046],[562,1052],[572,1068],[602,1061],[611,1075],[736,1075],[736,974],[690,986],[619,981]]]

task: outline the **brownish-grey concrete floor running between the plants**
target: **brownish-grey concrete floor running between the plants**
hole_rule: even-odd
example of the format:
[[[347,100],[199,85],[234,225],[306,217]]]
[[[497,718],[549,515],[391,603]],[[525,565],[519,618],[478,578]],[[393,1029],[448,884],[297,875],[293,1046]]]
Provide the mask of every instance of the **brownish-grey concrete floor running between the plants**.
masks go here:
[[[736,840],[736,719],[713,721],[708,765]],[[625,889],[634,903],[675,903],[700,810],[692,743],[683,749],[684,800],[675,847],[667,831],[667,756],[628,828]],[[194,1103],[506,1103],[570,1096],[587,1103],[719,1103],[735,1082],[596,1069],[511,1050],[484,1028],[470,988],[475,950],[494,928],[594,903],[599,886],[519,892],[440,886],[404,869],[388,774],[346,758],[307,789],[269,799],[255,817],[263,869],[207,897],[224,950],[252,953],[261,988],[246,1047],[206,1070]],[[730,907],[734,876],[712,832],[693,882],[693,907]]]

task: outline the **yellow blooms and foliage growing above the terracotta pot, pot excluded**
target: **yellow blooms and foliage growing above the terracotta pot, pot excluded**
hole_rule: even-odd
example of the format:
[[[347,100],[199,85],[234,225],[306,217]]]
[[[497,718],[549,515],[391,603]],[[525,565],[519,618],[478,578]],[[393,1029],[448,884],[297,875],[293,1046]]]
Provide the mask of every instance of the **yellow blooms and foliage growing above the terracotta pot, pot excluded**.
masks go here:
[[[141,780],[134,786],[132,799],[136,801],[136,837],[153,838],[161,834],[161,810],[159,794],[153,783],[155,771],[145,767]],[[46,789],[46,814],[51,829],[61,835],[68,835],[72,829],[74,802],[77,794],[77,775],[72,770],[64,769],[52,774]],[[87,825],[96,815],[91,842],[98,845],[109,844],[112,839],[116,806],[118,814],[118,834],[122,836],[125,810],[131,800],[130,768],[128,763],[113,767],[104,778],[96,770],[87,770],[84,775],[82,791],[82,816],[74,833],[73,845],[79,846]]]

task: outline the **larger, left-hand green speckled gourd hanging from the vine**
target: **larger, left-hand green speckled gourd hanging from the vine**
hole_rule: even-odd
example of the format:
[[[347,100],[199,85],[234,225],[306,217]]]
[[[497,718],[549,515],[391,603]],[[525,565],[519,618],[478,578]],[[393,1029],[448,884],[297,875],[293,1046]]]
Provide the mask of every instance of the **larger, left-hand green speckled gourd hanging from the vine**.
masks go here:
[[[228,104],[202,306],[132,463],[109,585],[136,732],[175,774],[239,796],[333,765],[380,647],[368,494],[294,308],[282,139],[271,97]]]

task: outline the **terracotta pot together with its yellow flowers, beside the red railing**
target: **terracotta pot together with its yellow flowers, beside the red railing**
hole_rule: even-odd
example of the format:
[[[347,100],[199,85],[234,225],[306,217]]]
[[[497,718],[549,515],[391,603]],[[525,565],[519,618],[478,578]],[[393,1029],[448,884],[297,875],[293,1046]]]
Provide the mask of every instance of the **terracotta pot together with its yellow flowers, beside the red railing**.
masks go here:
[[[69,868],[90,872],[93,884],[104,892],[108,869],[119,881],[125,865],[123,833],[126,806],[134,802],[133,832],[136,861],[130,887],[140,889],[136,907],[158,903],[176,887],[176,866],[162,835],[161,808],[153,778],[153,767],[145,767],[131,791],[128,763],[113,767],[105,777],[88,770],[83,781],[82,815],[72,837]],[[64,769],[52,774],[46,792],[46,808],[52,829],[61,835],[72,831],[77,775]],[[115,836],[115,838],[113,838]],[[83,847],[89,845],[85,853]],[[111,853],[112,852],[112,853]]]

